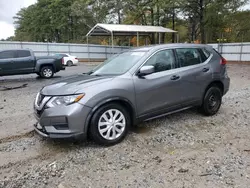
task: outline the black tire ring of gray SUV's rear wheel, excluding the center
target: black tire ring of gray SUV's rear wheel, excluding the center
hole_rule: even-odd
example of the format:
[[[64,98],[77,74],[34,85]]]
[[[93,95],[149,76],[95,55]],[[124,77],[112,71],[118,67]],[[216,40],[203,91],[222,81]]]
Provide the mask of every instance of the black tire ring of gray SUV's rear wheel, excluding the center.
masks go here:
[[[218,104],[216,109],[209,109],[209,98],[211,97],[212,94],[215,94],[216,97],[218,97],[219,104]],[[222,103],[222,92],[221,92],[221,90],[216,86],[210,87],[207,90],[207,92],[206,92],[206,94],[204,96],[202,111],[207,116],[213,116],[219,111],[219,109],[221,107],[221,103]]]

